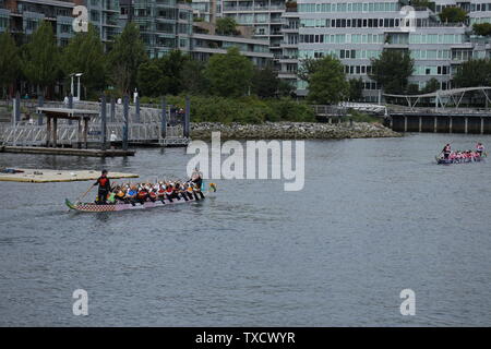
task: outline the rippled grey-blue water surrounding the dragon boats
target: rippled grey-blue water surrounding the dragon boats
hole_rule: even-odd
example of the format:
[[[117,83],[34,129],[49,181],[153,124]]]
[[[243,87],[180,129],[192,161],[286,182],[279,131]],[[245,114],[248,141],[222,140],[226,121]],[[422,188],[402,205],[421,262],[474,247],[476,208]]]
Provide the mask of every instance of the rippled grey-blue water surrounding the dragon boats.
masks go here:
[[[87,182],[0,182],[0,325],[491,325],[490,136],[312,141],[306,186],[217,181],[203,203],[67,213]],[[183,177],[183,149],[128,159],[2,154],[0,166]],[[95,192],[94,192],[95,193]],[[72,314],[88,292],[89,315]],[[402,316],[400,290],[416,292]]]

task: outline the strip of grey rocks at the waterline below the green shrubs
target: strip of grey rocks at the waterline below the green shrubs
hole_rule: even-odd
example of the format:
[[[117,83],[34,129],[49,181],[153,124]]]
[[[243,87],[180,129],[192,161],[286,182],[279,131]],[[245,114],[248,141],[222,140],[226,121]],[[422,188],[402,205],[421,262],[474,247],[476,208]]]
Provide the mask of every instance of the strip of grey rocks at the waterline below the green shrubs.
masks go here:
[[[221,140],[342,140],[398,137],[380,123],[354,122],[330,124],[319,122],[266,122],[262,124],[224,124],[219,122],[191,123],[191,137],[209,140],[219,131]]]

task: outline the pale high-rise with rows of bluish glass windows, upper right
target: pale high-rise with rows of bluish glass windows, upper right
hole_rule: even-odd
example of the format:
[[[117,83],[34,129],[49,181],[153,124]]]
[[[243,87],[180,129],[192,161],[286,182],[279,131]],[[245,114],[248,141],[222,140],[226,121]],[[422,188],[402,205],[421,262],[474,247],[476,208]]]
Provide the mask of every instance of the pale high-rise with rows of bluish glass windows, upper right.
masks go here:
[[[432,79],[441,88],[450,88],[458,64],[472,57],[490,57],[489,39],[476,38],[470,25],[491,22],[491,1],[414,1],[412,10],[404,8],[407,4],[402,0],[298,0],[299,58],[337,57],[348,79],[362,79],[364,99],[378,101],[381,89],[369,73],[371,59],[384,49],[403,50],[415,59],[409,83],[419,88]],[[469,20],[443,23],[439,13],[445,7],[463,8]],[[307,87],[298,82],[300,95]]]

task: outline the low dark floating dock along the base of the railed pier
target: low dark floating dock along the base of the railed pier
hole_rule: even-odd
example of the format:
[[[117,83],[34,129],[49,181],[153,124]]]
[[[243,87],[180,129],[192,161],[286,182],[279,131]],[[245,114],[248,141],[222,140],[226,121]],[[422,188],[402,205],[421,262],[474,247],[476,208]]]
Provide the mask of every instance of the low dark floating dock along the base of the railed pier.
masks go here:
[[[135,151],[123,149],[79,149],[79,148],[53,148],[40,146],[9,146],[0,147],[0,153],[20,153],[20,154],[46,154],[46,155],[69,155],[69,156],[93,156],[93,157],[115,157],[133,156]]]

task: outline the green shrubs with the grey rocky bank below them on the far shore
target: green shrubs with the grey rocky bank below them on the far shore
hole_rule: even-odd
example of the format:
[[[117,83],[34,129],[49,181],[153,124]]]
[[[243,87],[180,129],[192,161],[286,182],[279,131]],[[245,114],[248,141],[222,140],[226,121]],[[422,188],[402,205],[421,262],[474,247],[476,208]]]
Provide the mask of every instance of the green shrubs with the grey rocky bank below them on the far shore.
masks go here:
[[[191,137],[211,140],[219,131],[223,140],[340,140],[396,137],[379,119],[352,112],[350,122],[315,122],[313,109],[291,98],[224,98],[191,96]],[[143,103],[158,103],[146,99]],[[167,103],[184,107],[183,96],[168,96]]]

